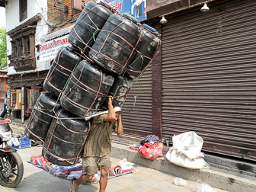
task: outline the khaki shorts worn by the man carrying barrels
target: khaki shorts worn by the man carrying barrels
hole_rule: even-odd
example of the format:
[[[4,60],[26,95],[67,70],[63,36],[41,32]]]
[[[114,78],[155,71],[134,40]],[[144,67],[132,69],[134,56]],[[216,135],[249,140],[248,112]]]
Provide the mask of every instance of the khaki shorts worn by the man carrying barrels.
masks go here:
[[[84,157],[82,162],[82,171],[87,174],[96,174],[98,170],[110,168],[110,155],[100,157]]]

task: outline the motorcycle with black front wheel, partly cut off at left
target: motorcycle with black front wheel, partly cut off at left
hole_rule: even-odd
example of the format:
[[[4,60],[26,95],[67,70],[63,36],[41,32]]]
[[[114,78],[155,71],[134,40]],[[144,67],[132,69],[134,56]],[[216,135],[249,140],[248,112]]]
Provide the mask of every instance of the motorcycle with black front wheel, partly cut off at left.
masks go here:
[[[14,188],[21,182],[24,167],[17,149],[8,146],[8,141],[12,138],[9,123],[11,120],[0,117],[0,184]]]

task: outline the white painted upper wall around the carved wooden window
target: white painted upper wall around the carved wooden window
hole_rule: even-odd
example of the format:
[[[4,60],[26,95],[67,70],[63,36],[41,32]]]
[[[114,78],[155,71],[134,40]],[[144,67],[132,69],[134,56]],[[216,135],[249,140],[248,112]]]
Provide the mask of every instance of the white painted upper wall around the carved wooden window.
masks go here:
[[[19,16],[19,1],[18,0],[8,0],[8,4],[5,8],[6,13],[6,31],[13,30],[15,27],[23,24],[30,18],[33,18],[37,14],[40,15],[40,21],[37,21],[37,29],[35,33],[35,45],[40,44],[40,40],[42,37],[46,36],[48,31],[48,25],[46,24],[47,21],[47,0],[27,0],[27,18],[24,21],[20,22]],[[11,38],[7,35],[7,55],[11,54]],[[35,48],[35,56],[39,56]],[[8,61],[9,63],[9,61]],[[37,62],[37,69],[30,71],[43,71],[46,69],[50,69],[50,63],[48,62]],[[26,71],[27,73],[28,71]],[[14,75],[24,72],[16,72],[14,67],[8,67],[8,75]]]

